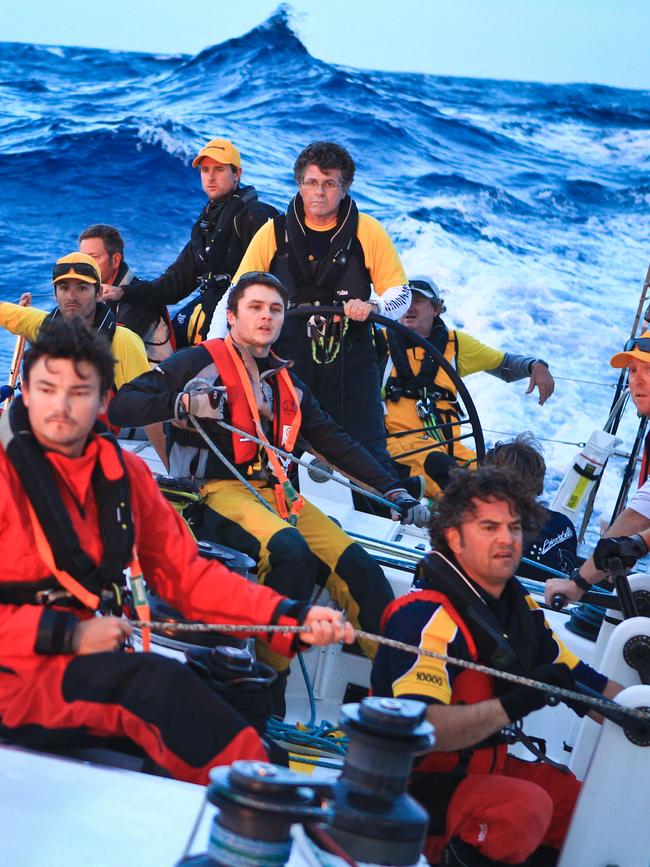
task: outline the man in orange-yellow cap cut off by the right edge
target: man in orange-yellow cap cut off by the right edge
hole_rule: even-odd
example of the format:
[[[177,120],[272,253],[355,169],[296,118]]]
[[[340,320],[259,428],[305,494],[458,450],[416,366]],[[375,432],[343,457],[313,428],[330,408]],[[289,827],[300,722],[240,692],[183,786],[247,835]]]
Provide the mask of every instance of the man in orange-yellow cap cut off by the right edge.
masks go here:
[[[612,367],[627,367],[630,396],[641,416],[650,416],[650,331],[633,337],[609,362]],[[639,487],[594,549],[592,556],[574,569],[568,581],[553,578],[546,582],[545,596],[551,601],[561,594],[569,602],[578,602],[583,593],[601,581],[609,561],[618,557],[626,569],[648,553],[650,546],[650,443],[646,438]]]

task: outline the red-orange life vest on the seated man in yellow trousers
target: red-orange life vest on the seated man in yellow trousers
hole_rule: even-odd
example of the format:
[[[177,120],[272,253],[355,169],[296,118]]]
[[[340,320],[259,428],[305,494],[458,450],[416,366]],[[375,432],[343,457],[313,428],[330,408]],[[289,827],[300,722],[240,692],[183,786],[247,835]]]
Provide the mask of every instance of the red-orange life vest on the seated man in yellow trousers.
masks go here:
[[[203,344],[210,353],[228,393],[230,415],[234,425],[254,434],[264,443],[264,451],[275,477],[275,502],[278,514],[295,527],[302,511],[304,500],[295,490],[282,462],[266,435],[262,424],[262,411],[273,424],[273,439],[287,452],[293,451],[300,432],[302,414],[300,400],[286,367],[268,371],[275,374],[277,385],[274,407],[265,404],[260,373],[252,358],[240,354],[230,335],[225,340],[208,340]],[[249,363],[246,364],[246,361]],[[257,454],[257,445],[251,440],[233,435],[235,463],[247,463]]]

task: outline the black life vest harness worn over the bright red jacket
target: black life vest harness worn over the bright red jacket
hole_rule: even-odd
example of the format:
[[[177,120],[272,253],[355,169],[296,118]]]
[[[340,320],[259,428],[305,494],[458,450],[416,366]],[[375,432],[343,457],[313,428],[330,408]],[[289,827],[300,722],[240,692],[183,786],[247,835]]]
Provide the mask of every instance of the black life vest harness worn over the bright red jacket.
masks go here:
[[[83,607],[119,615],[124,601],[124,569],[131,568],[132,589],[134,581],[138,586],[138,576],[142,581],[124,459],[110,434],[98,431],[94,436],[98,455],[92,488],[104,552],[98,565],[81,547],[59,493],[55,470],[32,433],[22,398],[16,398],[4,413],[0,442],[27,495],[38,555],[51,576],[36,582],[0,583],[1,602]],[[136,611],[146,614],[149,607],[138,602]]]

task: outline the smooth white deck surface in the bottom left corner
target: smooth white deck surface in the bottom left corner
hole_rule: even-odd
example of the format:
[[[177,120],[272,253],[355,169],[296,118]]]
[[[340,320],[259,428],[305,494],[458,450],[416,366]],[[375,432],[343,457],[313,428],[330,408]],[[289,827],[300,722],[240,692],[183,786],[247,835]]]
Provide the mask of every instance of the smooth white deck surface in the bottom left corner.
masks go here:
[[[0,781],[3,867],[171,867],[205,792],[11,747],[0,747]],[[212,812],[206,810],[195,852],[205,851]]]

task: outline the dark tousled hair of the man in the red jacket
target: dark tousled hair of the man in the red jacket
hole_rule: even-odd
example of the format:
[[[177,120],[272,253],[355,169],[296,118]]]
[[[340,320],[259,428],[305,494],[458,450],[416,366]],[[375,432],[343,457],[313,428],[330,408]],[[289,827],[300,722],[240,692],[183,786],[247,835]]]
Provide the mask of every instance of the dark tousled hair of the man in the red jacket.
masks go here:
[[[38,337],[25,353],[23,360],[23,380],[27,386],[32,367],[44,357],[69,358],[77,375],[82,379],[85,377],[79,371],[79,362],[87,361],[99,374],[102,396],[113,385],[115,359],[111,345],[103,334],[90,329],[81,316],[72,316],[69,319],[57,316],[41,325]]]

